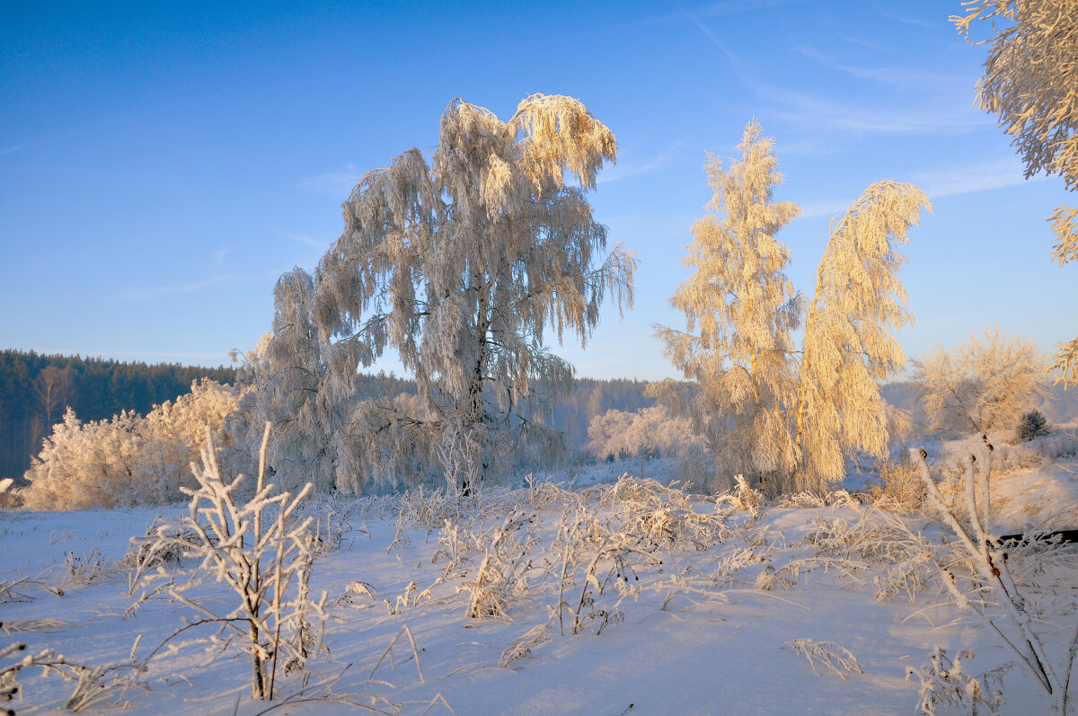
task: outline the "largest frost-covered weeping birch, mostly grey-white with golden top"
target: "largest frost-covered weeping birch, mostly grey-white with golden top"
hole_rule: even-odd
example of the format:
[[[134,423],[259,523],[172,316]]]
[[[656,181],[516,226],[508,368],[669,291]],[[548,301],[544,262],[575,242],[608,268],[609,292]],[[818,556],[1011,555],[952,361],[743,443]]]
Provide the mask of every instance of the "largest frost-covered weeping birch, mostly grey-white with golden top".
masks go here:
[[[635,260],[604,254],[584,196],[614,159],[613,134],[576,99],[533,95],[506,122],[453,100],[430,162],[413,148],[369,171],[318,265],[314,319],[334,395],[392,348],[433,416],[416,459],[445,430],[487,463],[511,442],[495,435],[553,446],[544,412],[572,368],[544,338],[583,343],[605,298],[632,303]],[[377,427],[385,414],[369,408],[350,422]]]

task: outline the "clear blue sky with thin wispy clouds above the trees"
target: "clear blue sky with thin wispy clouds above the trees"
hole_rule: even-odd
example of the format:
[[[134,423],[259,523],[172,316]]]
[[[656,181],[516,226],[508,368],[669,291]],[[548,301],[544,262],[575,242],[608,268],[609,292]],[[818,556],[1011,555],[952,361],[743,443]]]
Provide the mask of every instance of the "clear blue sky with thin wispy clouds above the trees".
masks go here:
[[[617,135],[591,198],[640,259],[636,307],[559,350],[580,375],[674,375],[651,326],[683,327],[666,300],[705,154],[730,156],[754,116],[777,197],[804,209],[779,234],[799,289],[832,215],[912,181],[936,210],[902,274],[910,356],[996,325],[1045,352],[1078,333],[1045,221],[1076,197],[1024,180],[973,108],[986,51],[948,23],[957,1],[0,8],[0,347],[226,363],[268,330],[280,273],[340,235],[365,170],[429,152],[454,97],[508,118],[537,92]]]

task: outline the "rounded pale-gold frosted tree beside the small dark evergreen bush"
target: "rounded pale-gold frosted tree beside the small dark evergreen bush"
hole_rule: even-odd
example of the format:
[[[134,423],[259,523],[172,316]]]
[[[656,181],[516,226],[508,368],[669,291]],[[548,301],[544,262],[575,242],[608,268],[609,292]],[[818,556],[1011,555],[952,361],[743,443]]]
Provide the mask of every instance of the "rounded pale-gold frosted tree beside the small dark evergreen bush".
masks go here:
[[[969,336],[955,352],[936,346],[913,361],[925,412],[936,429],[987,432],[1010,428],[1044,386],[1045,359],[1034,343],[998,328]]]

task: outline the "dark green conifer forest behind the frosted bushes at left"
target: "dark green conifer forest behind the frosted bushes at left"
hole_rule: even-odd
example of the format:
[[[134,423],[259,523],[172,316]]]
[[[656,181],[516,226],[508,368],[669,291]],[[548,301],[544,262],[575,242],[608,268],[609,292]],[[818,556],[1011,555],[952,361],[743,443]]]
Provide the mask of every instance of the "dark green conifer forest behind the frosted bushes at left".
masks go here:
[[[232,368],[179,363],[147,364],[34,352],[0,352],[0,477],[22,477],[30,454],[52,425],[71,408],[82,421],[99,421],[153,405],[191,391],[208,377],[233,383]]]

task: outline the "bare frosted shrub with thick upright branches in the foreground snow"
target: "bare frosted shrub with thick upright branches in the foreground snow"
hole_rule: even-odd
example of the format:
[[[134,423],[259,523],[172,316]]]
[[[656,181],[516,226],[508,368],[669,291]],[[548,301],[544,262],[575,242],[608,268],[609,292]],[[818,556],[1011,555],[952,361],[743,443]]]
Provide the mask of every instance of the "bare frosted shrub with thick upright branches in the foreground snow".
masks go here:
[[[254,699],[273,698],[279,661],[289,672],[302,667],[307,657],[317,652],[321,641],[319,630],[326,620],[322,608],[326,594],[318,602],[308,594],[315,557],[310,533],[314,520],[290,519],[312,485],[308,483],[293,497],[279,492],[274,484],[266,484],[270,432],[271,425],[266,424],[253,494],[246,501],[237,501],[236,494],[246,478],[240,474],[231,483],[221,479],[207,428],[202,466],[192,466],[198,488],[184,488],[191,495],[189,513],[178,520],[163,521],[154,535],[137,540],[151,554],[176,549],[181,559],[198,561],[197,566],[176,575],[158,567],[151,577],[151,580],[167,580],[158,587],[160,591],[195,612],[165,644],[194,626],[218,626],[217,635],[209,642],[225,647],[237,644],[250,655]],[[232,589],[235,602],[231,609],[189,595],[191,588],[210,578]],[[229,637],[222,638],[224,634]],[[233,634],[239,634],[241,639],[234,641]]]

